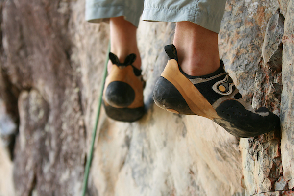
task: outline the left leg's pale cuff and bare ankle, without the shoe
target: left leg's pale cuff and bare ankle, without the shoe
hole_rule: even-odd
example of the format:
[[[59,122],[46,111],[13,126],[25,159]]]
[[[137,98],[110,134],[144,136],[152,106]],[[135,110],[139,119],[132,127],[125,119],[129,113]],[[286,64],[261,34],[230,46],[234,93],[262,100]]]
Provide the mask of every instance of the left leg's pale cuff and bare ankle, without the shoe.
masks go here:
[[[134,66],[141,67],[141,58],[137,47],[136,32],[143,11],[144,0],[86,0],[85,18],[88,22],[109,21],[111,52],[121,62],[128,54],[137,58]],[[108,71],[112,64],[108,63]]]

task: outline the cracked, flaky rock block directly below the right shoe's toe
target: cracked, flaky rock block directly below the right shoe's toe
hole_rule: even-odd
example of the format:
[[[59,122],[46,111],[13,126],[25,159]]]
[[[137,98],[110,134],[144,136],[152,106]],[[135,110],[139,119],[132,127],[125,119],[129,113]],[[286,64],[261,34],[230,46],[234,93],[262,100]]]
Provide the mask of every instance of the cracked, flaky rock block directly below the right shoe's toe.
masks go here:
[[[245,195],[270,192],[282,175],[279,134],[268,133],[261,138],[240,140]]]

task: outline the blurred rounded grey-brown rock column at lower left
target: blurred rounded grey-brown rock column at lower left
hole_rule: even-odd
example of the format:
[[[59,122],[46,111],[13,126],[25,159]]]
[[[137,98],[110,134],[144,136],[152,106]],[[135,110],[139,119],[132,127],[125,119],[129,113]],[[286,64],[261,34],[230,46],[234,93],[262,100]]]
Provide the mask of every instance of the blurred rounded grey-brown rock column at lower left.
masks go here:
[[[45,106],[45,107],[44,107]],[[46,121],[48,119],[48,106],[37,91],[23,92],[19,99],[21,124],[16,144],[16,157],[14,160],[14,179],[17,185],[16,195],[29,195],[36,186],[37,172],[41,172],[39,153],[46,155],[42,148],[45,143]],[[18,171],[17,168],[25,170]],[[43,172],[42,172],[43,173]]]

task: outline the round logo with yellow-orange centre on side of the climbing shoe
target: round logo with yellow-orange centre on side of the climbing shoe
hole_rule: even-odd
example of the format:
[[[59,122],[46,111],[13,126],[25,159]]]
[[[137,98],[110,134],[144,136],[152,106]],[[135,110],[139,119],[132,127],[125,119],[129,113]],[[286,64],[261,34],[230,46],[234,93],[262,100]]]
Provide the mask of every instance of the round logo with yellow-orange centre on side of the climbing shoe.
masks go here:
[[[220,80],[216,82],[213,86],[212,89],[221,95],[230,95],[233,93],[233,80],[232,78],[229,77],[229,75],[226,75],[223,80]]]

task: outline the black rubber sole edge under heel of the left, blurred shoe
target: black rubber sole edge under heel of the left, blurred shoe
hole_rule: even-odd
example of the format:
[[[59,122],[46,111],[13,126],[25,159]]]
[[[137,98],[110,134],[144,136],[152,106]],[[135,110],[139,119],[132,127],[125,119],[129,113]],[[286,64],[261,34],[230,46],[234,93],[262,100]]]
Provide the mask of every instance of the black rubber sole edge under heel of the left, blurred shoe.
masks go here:
[[[134,122],[141,119],[145,114],[145,108],[115,108],[110,105],[106,106],[104,101],[103,106],[107,116],[116,121]]]

